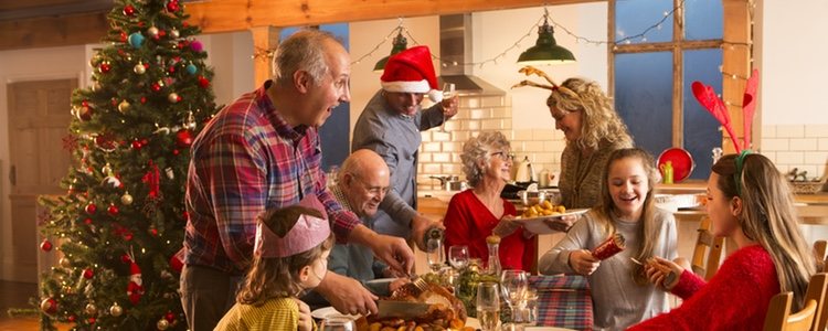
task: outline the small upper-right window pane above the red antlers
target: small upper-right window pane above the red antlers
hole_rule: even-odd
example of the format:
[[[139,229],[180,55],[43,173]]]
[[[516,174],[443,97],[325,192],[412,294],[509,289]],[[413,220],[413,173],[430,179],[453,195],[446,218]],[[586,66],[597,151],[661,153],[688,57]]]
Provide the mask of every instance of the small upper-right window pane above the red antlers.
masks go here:
[[[722,39],[722,1],[684,0],[684,39]]]

